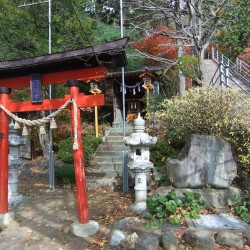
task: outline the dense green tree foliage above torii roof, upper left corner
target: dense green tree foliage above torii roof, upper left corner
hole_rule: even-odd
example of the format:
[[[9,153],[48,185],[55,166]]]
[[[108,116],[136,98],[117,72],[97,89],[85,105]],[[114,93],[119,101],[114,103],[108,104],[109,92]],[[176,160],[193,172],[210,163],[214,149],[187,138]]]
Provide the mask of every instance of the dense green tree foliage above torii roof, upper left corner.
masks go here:
[[[83,1],[52,0],[52,52],[92,45],[96,21],[83,9]],[[2,0],[0,60],[48,52],[48,4]],[[90,44],[91,43],[91,44]]]

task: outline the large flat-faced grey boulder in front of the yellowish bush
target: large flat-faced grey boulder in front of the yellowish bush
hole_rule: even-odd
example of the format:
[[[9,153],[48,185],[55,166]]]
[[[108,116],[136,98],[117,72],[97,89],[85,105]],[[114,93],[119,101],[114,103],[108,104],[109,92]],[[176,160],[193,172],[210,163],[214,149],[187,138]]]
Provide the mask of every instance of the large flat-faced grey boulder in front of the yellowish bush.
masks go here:
[[[167,175],[177,188],[228,188],[237,173],[230,144],[216,136],[194,134],[178,159],[167,159]]]

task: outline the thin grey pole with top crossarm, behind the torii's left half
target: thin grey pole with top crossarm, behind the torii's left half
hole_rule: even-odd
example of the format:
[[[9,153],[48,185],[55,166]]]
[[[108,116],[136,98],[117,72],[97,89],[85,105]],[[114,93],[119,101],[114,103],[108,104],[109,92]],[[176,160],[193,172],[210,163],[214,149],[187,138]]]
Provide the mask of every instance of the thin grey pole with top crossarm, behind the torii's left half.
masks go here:
[[[32,3],[24,3],[18,7],[27,7],[42,3],[48,3],[48,54],[51,54],[51,2],[52,0],[44,0]],[[49,85],[49,99],[52,98],[51,85]],[[51,110],[50,110],[51,113]],[[55,173],[54,173],[54,151],[53,151],[53,134],[52,129],[49,130],[49,186],[50,190],[55,190]]]

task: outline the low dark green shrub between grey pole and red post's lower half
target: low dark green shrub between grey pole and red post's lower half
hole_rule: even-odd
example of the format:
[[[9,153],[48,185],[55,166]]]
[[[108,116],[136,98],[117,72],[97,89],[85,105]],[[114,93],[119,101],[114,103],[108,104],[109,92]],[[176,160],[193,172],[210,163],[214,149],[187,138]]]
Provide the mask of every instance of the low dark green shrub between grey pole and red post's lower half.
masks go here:
[[[73,164],[64,164],[55,170],[55,177],[58,182],[63,184],[75,183],[75,170]]]

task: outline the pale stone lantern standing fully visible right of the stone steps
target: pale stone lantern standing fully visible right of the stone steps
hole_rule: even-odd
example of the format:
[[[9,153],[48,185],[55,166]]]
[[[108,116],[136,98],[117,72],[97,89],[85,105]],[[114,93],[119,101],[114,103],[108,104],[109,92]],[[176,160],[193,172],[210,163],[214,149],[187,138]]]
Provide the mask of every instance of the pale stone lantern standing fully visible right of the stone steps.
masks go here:
[[[131,148],[128,167],[135,173],[135,203],[129,210],[141,212],[147,207],[147,174],[154,168],[153,163],[149,161],[149,147],[156,143],[157,138],[144,133],[145,120],[140,114],[134,120],[134,130],[135,133],[124,137],[124,143]]]

